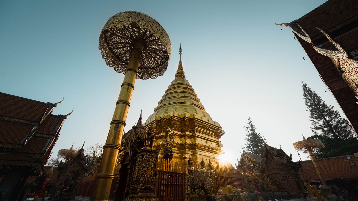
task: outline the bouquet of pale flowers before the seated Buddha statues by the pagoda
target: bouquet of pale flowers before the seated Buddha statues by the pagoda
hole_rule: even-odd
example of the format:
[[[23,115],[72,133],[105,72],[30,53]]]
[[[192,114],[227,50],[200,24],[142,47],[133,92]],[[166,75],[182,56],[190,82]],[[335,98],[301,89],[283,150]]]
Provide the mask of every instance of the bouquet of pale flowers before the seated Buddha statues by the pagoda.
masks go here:
[[[213,177],[201,170],[194,170],[187,178],[188,195],[208,195],[211,193],[213,185]]]

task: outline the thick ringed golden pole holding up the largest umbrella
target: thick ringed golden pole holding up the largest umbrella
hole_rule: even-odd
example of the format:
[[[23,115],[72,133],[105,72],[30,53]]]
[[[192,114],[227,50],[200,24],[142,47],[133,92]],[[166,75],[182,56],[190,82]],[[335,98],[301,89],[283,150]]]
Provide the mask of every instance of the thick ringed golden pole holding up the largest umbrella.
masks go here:
[[[144,44],[136,41],[129,55],[128,67],[124,76],[121,91],[116,102],[110,131],[108,132],[106,144],[103,146],[101,164],[96,175],[95,187],[92,192],[92,200],[108,200],[114,178],[118,152],[121,148],[122,133],[126,125],[126,119],[134,90],[134,82],[137,76],[139,62],[142,59]]]

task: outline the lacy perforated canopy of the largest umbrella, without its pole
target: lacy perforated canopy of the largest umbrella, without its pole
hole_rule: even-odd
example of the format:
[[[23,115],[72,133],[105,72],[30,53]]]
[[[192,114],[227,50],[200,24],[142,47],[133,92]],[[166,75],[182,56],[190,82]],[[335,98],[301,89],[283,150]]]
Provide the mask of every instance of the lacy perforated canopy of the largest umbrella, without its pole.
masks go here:
[[[99,49],[107,66],[125,74],[135,41],[144,49],[136,79],[155,79],[164,75],[170,59],[170,39],[163,27],[150,16],[135,11],[112,16],[103,27]]]

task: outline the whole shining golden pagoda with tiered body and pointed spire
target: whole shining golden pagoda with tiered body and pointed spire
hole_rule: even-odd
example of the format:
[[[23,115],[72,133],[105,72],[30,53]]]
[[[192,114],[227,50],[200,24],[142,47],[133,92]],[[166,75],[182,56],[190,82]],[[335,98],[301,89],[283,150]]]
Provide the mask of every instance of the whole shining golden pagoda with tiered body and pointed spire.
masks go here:
[[[220,137],[224,134],[222,127],[213,121],[205,111],[197,94],[185,77],[182,64],[182,46],[180,45],[180,60],[174,80],[165,90],[165,94],[154,108],[154,113],[144,123],[147,129],[153,124],[156,132],[156,150],[159,150],[159,160],[162,159],[166,146],[165,139],[173,136],[173,160],[183,160],[190,156],[194,162],[202,159],[207,164],[209,159],[216,161],[223,154]]]

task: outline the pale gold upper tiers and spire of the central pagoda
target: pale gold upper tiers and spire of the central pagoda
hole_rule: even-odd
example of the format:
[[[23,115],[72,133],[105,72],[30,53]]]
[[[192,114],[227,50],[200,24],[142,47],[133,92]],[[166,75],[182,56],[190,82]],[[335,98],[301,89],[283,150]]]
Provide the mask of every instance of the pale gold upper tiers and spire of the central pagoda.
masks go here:
[[[186,116],[220,127],[220,124],[213,121],[208,112],[205,111],[192,85],[190,85],[186,79],[181,55],[174,80],[168,86],[168,89],[165,90],[162,99],[158,102],[158,106],[154,108],[154,113],[146,120],[145,125],[154,120],[159,120],[163,117],[168,118],[170,116]],[[223,133],[224,131],[222,131],[222,134]]]

